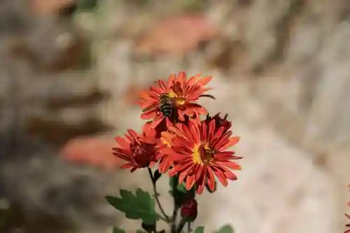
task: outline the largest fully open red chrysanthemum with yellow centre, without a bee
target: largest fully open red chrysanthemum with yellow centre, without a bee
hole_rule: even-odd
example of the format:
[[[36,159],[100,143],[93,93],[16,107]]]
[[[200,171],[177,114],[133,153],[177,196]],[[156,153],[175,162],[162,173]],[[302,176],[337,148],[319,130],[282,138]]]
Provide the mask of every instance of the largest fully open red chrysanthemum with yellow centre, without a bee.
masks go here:
[[[186,181],[187,190],[196,184],[196,191],[201,194],[207,183],[209,189],[214,191],[214,174],[224,186],[228,185],[228,179],[237,180],[230,169],[239,170],[241,167],[231,160],[241,157],[225,150],[234,146],[239,136],[232,136],[230,129],[224,126],[217,128],[216,120],[212,119],[209,122],[203,120],[200,124],[190,120],[188,126],[179,122],[170,130],[176,136],[169,139],[168,134],[162,134],[171,147],[162,148],[160,153],[174,161],[169,175],[179,174],[179,183]]]

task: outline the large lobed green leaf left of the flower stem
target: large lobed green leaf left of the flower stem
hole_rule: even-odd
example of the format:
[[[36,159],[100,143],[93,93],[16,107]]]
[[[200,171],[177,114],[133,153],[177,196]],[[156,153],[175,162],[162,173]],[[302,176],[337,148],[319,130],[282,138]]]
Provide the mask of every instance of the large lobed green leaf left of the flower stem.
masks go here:
[[[107,196],[106,200],[125,213],[127,218],[141,219],[146,225],[154,225],[159,219],[158,213],[155,213],[155,200],[148,192],[138,188],[133,195],[130,191],[120,190],[120,197]]]

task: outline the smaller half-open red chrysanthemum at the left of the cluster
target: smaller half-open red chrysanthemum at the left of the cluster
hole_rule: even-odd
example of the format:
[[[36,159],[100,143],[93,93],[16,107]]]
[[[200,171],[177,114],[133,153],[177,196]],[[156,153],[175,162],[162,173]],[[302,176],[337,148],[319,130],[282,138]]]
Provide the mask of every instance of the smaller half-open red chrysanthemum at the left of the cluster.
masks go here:
[[[150,123],[144,125],[142,134],[137,134],[132,129],[128,129],[129,134],[116,137],[118,146],[113,148],[116,157],[126,160],[122,168],[132,168],[131,172],[143,167],[151,167],[157,162],[158,157],[158,139],[155,138],[155,130],[151,128]]]

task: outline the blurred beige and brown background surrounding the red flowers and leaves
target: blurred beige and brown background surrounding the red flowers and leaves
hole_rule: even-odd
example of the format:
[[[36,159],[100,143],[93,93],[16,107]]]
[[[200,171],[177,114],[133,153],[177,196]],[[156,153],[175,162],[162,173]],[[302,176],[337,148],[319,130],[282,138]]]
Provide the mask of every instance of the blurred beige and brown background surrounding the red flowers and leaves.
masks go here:
[[[244,157],[195,225],[344,232],[349,0],[1,0],[0,41],[0,232],[135,232],[104,196],[150,187],[118,169],[113,138],[178,71],[214,76],[201,103],[229,114]]]

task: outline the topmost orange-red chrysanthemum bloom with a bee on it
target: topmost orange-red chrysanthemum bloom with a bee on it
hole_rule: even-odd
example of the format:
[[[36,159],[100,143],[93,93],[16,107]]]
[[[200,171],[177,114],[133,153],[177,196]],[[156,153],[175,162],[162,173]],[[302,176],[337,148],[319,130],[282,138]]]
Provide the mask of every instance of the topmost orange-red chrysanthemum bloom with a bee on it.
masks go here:
[[[195,102],[200,97],[210,97],[210,94],[204,94],[210,87],[204,87],[210,82],[211,76],[200,78],[200,75],[186,78],[185,72],[179,72],[176,76],[172,74],[168,80],[158,80],[157,85],[149,90],[141,92],[139,105],[144,108],[141,114],[142,119],[153,118],[152,127],[156,127],[160,122],[167,119],[169,122],[175,120],[184,121],[186,116],[207,114],[207,109]],[[167,104],[165,112],[164,103]]]

